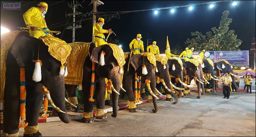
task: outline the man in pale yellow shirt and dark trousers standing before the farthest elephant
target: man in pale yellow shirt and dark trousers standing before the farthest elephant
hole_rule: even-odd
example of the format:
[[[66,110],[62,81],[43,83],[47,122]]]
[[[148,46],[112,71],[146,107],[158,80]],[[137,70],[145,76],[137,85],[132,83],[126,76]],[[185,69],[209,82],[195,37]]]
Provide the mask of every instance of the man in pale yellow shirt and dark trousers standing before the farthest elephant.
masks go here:
[[[224,76],[222,76],[222,84],[223,84],[223,94],[224,99],[227,97],[229,99],[230,96],[230,84],[232,82],[231,76],[228,75],[228,73],[225,73]]]

